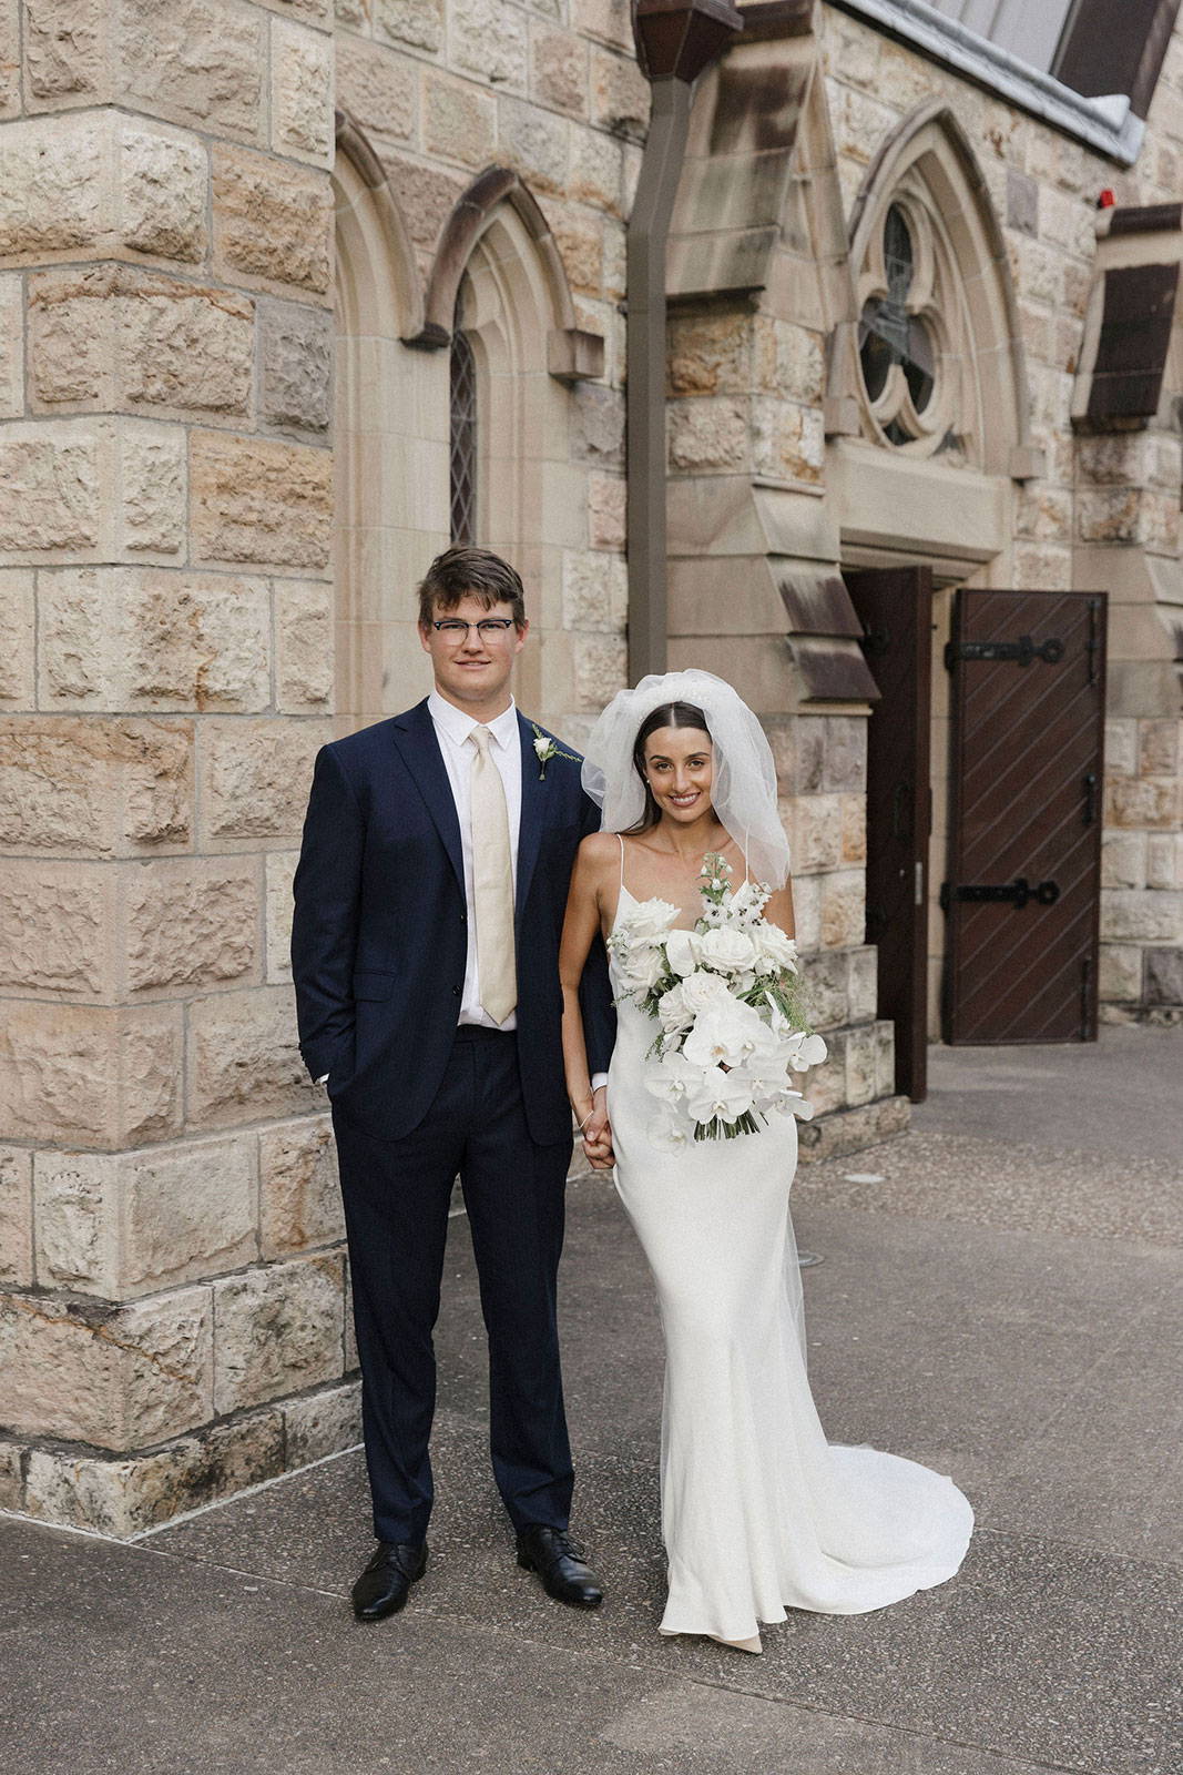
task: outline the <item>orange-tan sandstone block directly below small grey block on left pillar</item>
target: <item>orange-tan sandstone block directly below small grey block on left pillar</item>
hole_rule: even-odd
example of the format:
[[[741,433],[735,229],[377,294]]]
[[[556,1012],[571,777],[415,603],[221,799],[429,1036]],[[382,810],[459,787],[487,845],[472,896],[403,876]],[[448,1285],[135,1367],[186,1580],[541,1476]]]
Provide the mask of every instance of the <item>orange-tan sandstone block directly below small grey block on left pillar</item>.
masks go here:
[[[328,451],[197,431],[190,442],[190,497],[193,552],[202,561],[328,566]]]

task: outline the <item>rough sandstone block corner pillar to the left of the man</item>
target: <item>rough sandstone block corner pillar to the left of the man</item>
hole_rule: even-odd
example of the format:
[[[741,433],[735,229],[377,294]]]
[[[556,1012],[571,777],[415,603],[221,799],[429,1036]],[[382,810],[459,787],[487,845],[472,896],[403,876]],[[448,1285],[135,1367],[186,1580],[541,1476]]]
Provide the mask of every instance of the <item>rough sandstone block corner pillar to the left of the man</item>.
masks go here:
[[[37,0],[20,48],[2,1502],[129,1534],[356,1434],[286,958],[333,706],[332,12]]]

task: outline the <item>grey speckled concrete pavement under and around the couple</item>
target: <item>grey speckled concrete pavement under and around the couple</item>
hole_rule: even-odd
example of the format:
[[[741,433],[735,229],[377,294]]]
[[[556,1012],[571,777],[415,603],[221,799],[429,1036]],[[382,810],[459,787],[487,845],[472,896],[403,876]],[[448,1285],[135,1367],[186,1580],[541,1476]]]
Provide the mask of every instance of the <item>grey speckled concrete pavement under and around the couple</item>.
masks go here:
[[[0,1523],[0,1700],[23,1775],[1178,1775],[1183,1031],[935,1051],[892,1143],[802,1170],[811,1372],[835,1441],[952,1473],[949,1585],[793,1615],[763,1660],[660,1640],[660,1333],[601,1179],[564,1258],[594,1615],[516,1569],[484,1447],[466,1228],[440,1326],[433,1562],[348,1613],[356,1452],[126,1546]]]

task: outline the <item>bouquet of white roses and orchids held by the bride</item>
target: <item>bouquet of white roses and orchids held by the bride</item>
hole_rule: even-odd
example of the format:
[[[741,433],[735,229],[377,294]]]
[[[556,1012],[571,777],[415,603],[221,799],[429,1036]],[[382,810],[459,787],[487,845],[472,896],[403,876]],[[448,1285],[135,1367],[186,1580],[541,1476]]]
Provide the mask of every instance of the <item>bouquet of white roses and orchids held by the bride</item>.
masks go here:
[[[754,1134],[770,1111],[809,1120],[812,1104],[789,1085],[827,1058],[800,1010],[796,943],[770,925],[761,882],[731,889],[731,864],[702,859],[702,916],[670,930],[678,907],[644,900],[608,937],[624,985],[660,1030],[646,1088],[663,1118],[651,1138],[663,1152],[688,1140]]]

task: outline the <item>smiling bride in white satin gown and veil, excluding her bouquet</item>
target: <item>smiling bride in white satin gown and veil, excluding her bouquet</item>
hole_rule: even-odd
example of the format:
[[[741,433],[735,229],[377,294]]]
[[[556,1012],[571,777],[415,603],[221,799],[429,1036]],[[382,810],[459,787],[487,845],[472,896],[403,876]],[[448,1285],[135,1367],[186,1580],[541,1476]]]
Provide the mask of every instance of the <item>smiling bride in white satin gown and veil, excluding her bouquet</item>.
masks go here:
[[[759,1653],[759,1624],[786,1608],[857,1615],[951,1578],[974,1516],[952,1480],[913,1461],[825,1440],[805,1374],[789,1186],[796,1124],[653,1143],[646,1090],[653,1021],[624,996],[614,960],[617,1042],[608,1140],[599,1136],[578,1012],[596,932],[646,902],[693,927],[699,872],[718,852],[738,886],[773,888],[764,918],[793,935],[789,850],[768,740],[741,698],[704,671],[642,678],[592,730],[584,786],[603,808],[585,838],[562,935],[562,1042],[576,1120],[615,1182],[656,1282],[665,1331],[662,1633],[701,1633]],[[596,1138],[599,1136],[599,1138]]]

